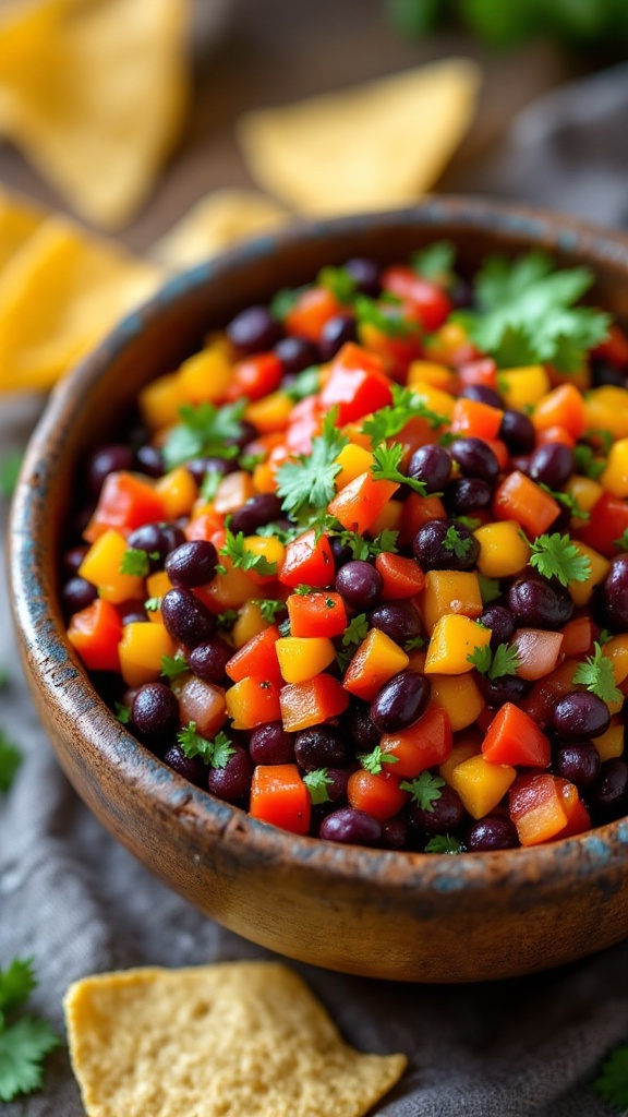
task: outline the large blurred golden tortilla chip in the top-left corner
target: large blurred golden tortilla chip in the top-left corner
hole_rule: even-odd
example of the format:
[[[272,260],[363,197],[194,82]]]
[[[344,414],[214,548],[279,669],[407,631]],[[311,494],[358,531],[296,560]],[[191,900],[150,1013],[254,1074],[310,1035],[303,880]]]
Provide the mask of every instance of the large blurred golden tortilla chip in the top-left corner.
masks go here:
[[[188,96],[188,0],[36,0],[0,16],[0,134],[87,220],[144,200]]]

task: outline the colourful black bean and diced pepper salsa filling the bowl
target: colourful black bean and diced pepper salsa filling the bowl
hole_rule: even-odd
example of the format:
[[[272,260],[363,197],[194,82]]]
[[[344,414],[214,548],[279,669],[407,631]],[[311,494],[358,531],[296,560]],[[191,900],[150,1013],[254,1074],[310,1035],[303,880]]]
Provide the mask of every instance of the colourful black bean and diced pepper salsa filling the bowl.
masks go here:
[[[86,466],[68,638],[180,775],[427,853],[628,813],[628,336],[586,268],[354,258],[248,306]],[[77,526],[79,525],[79,526]]]

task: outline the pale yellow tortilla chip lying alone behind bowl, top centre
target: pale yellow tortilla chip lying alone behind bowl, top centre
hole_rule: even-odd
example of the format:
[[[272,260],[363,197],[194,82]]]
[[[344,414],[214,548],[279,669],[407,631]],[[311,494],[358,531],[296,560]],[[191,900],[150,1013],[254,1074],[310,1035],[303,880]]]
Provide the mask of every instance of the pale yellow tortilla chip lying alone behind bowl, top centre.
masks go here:
[[[246,114],[238,139],[256,182],[305,213],[411,203],[443,172],[475,111],[479,69],[450,58]]]

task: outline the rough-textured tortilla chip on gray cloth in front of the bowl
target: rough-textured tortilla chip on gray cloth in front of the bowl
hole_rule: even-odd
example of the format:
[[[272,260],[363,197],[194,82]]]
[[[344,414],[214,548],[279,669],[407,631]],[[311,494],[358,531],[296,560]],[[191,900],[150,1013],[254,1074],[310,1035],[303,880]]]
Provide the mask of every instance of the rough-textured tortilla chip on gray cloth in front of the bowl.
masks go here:
[[[406,1068],[345,1044],[279,963],[87,977],[65,1012],[88,1117],[361,1117]]]

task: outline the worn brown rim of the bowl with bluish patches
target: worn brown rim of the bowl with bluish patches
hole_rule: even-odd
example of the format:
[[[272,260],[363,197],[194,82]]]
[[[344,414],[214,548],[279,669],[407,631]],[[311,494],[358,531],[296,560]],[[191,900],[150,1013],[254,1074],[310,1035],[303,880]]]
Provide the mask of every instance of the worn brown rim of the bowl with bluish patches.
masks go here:
[[[30,672],[37,676],[47,704],[61,722],[76,722],[77,703],[87,712],[83,733],[91,748],[104,763],[115,760],[124,781],[150,787],[155,806],[175,812],[179,824],[199,834],[199,824],[220,840],[232,840],[254,855],[264,848],[264,860],[285,866],[296,860],[312,877],[360,880],[373,888],[401,887],[474,892],[491,887],[555,886],[573,878],[574,858],[580,877],[628,863],[628,817],[617,819],[584,833],[541,846],[484,853],[463,852],[456,857],[438,853],[397,851],[324,841],[301,837],[251,818],[240,808],[213,798],[185,781],[145,748],[117,720],[99,698],[85,669],[65,637],[60,610],[50,602],[51,575],[46,575],[46,558],[34,526],[41,513],[50,479],[47,443],[59,430],[68,430],[80,408],[83,395],[102,373],[115,363],[146,326],[159,318],[164,307],[172,307],[196,288],[220,281],[234,267],[242,267],[284,248],[316,240],[327,235],[360,235],[372,222],[398,228],[434,228],[435,237],[456,223],[463,229],[504,233],[521,238],[522,250],[532,242],[554,254],[574,252],[591,257],[600,266],[622,268],[628,273],[628,236],[536,207],[484,198],[438,195],[417,206],[379,213],[356,214],[324,220],[298,220],[286,228],[228,249],[166,280],[141,307],[127,314],[101,344],[55,388],[29,440],[13,496],[9,522],[9,577],[15,624],[21,653]],[[593,262],[594,267],[594,262]],[[60,426],[59,426],[60,424]],[[56,569],[56,564],[53,564]],[[50,671],[50,665],[55,671]],[[27,672],[28,674],[28,672]],[[30,679],[29,679],[30,682]],[[181,803],[188,805],[181,811]],[[202,838],[199,839],[202,841]]]

